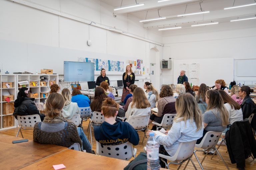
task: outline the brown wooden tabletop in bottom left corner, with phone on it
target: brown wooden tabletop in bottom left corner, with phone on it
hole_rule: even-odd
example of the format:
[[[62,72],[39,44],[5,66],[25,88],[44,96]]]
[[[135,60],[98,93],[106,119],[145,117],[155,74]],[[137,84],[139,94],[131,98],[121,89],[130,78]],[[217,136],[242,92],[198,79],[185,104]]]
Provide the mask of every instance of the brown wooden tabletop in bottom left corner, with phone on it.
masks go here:
[[[23,139],[0,133],[0,169],[19,169],[40,159],[66,150],[66,147],[28,142],[12,143],[13,140]]]

